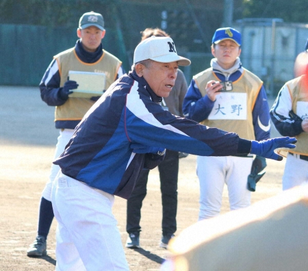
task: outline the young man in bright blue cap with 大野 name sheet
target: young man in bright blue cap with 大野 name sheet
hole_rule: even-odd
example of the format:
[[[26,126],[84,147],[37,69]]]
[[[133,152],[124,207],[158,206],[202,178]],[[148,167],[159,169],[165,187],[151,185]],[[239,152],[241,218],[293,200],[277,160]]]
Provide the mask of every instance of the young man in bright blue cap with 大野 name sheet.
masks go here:
[[[249,140],[270,138],[270,114],[263,82],[240,62],[241,34],[225,27],[212,39],[211,67],[195,75],[183,103],[186,118],[209,127],[238,133]],[[222,204],[224,183],[231,209],[251,204],[251,191],[266,166],[262,157],[232,155],[197,157],[200,181],[199,220],[217,216]],[[248,177],[249,175],[249,177]]]

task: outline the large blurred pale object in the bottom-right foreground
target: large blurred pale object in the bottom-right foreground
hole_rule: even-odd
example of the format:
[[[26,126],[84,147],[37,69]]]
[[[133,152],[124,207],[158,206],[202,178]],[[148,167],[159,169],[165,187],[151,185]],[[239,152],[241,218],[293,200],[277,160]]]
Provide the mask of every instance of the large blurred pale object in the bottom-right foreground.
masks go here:
[[[307,270],[307,223],[301,185],[188,227],[170,242],[162,270]]]

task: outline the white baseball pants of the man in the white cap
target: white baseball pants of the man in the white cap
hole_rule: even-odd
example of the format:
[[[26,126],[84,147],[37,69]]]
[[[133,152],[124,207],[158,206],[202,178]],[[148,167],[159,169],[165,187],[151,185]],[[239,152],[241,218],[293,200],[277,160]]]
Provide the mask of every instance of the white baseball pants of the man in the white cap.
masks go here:
[[[58,222],[55,270],[129,270],[112,214],[113,195],[60,171],[51,202]]]

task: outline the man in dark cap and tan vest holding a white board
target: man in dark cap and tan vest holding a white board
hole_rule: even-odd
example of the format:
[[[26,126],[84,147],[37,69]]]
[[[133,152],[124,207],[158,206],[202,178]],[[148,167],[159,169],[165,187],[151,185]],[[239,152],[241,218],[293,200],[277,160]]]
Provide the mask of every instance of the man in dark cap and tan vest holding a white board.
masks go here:
[[[59,129],[54,157],[59,157],[73,135],[76,125],[94,102],[99,94],[82,94],[82,97],[71,96],[73,90],[78,90],[78,82],[69,80],[70,71],[79,74],[91,74],[105,77],[99,87],[106,90],[125,71],[122,62],[114,55],[103,49],[101,40],[105,36],[103,16],[96,12],[86,12],[79,19],[77,40],[75,47],[59,53],[47,68],[40,82],[40,96],[47,105],[55,106],[55,128]],[[88,85],[90,85],[88,79]],[[29,257],[40,257],[47,254],[47,235],[53,221],[53,208],[51,205],[51,186],[53,179],[59,171],[59,166],[52,164],[49,180],[47,181],[38,215],[38,235],[27,250]]]

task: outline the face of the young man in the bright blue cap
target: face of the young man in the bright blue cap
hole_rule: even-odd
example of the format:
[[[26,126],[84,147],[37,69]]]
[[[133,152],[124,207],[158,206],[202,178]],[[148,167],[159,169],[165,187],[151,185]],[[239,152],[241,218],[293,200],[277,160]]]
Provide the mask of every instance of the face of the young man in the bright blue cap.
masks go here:
[[[211,49],[212,55],[217,58],[218,64],[225,70],[231,68],[240,56],[241,49],[233,40],[222,40]]]

